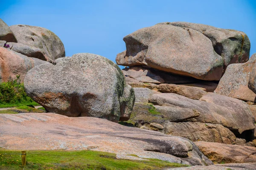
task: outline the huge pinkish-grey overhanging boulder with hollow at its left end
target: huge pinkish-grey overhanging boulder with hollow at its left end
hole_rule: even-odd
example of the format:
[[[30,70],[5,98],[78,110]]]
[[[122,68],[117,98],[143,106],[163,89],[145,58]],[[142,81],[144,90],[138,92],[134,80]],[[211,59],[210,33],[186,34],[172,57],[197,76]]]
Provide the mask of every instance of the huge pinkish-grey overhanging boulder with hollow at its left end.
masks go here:
[[[161,71],[203,80],[219,80],[223,59],[204,34],[189,28],[155,25],[124,37],[126,51],[116,63],[147,65]]]

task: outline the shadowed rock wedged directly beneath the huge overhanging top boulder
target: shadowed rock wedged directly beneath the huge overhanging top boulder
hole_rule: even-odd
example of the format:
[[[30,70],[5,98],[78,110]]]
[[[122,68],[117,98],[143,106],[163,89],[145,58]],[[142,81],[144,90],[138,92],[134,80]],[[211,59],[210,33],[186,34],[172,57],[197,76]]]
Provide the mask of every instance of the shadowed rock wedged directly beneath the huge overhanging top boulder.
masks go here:
[[[130,68],[122,69],[122,72],[125,76],[131,77],[133,79],[138,80],[139,82],[145,83],[188,83],[195,82],[196,79],[192,77],[184,77],[175,74],[170,74],[164,71],[157,71],[152,68],[145,68],[142,66],[134,66]]]

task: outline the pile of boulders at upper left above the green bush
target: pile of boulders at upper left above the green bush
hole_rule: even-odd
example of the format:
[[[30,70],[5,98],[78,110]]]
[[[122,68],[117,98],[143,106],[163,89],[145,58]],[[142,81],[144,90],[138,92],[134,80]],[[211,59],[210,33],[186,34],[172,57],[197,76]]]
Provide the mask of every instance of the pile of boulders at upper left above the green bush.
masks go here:
[[[9,27],[0,19],[0,82],[16,76],[23,82],[34,66],[61,57],[65,57],[64,45],[52,31],[27,25]]]

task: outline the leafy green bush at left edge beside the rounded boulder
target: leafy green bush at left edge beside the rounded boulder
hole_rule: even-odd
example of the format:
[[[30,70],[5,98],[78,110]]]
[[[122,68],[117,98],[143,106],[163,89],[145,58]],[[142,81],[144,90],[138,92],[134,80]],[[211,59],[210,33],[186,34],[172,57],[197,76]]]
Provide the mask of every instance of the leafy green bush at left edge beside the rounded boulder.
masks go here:
[[[33,100],[26,95],[20,76],[17,79],[9,79],[8,82],[0,83],[0,104],[32,103]]]

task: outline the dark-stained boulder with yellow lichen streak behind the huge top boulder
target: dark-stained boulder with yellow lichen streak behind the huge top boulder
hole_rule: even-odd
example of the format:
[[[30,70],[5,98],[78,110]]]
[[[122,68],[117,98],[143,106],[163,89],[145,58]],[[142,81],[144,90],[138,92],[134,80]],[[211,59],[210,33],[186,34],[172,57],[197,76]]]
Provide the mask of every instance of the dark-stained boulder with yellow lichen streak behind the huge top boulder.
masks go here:
[[[181,28],[191,28],[201,32],[212,41],[217,54],[224,59],[224,69],[232,63],[247,62],[250,56],[250,40],[242,31],[222,29],[204,24],[174,22],[159,23],[161,25],[172,25]]]

